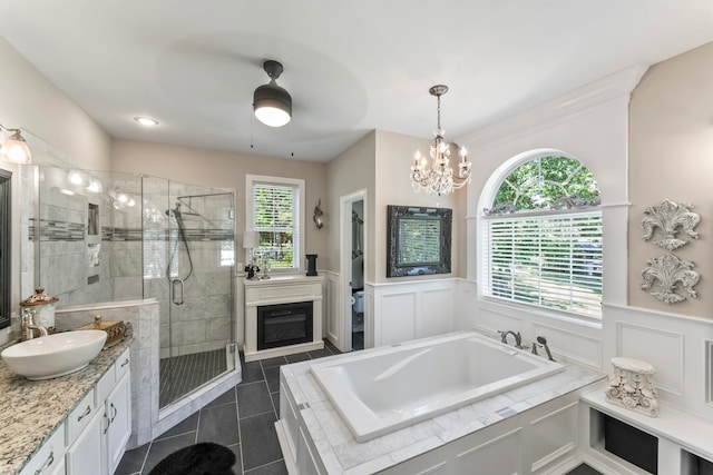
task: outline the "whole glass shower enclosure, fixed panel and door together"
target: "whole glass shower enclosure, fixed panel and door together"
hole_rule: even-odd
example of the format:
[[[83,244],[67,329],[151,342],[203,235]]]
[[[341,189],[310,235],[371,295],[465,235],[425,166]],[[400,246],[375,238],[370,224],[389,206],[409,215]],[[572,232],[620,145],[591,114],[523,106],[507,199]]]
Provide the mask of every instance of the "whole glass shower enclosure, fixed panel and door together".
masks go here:
[[[64,165],[28,169],[25,287],[85,308],[157,299],[160,408],[234,370],[234,194]]]

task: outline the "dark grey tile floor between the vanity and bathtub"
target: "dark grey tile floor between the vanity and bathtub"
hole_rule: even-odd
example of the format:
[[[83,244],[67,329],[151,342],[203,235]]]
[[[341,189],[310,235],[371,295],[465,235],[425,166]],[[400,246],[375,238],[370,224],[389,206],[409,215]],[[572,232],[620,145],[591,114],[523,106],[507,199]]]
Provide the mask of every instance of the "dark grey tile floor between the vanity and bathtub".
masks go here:
[[[242,475],[286,474],[274,423],[280,415],[280,366],[340,352],[324,349],[243,363],[243,380],[146,445],[127,451],[115,475],[146,475],[168,454],[198,442],[229,447]]]

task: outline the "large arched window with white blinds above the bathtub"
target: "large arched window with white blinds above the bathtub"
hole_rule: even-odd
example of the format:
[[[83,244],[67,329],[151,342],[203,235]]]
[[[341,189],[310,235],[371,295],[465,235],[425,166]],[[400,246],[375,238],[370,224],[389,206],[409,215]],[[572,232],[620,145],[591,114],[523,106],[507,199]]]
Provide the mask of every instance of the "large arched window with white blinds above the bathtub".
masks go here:
[[[482,295],[602,316],[602,210],[592,171],[538,155],[494,188],[481,216]]]

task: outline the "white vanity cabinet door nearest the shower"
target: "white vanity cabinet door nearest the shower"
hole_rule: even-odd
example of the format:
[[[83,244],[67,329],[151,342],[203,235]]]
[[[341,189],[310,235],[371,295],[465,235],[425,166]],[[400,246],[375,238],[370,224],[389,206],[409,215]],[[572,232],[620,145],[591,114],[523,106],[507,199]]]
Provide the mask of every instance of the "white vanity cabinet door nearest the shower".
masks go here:
[[[128,374],[125,374],[109,393],[104,410],[109,420],[109,427],[105,434],[107,467],[108,473],[113,474],[124,456],[126,443],[131,435],[131,387]]]

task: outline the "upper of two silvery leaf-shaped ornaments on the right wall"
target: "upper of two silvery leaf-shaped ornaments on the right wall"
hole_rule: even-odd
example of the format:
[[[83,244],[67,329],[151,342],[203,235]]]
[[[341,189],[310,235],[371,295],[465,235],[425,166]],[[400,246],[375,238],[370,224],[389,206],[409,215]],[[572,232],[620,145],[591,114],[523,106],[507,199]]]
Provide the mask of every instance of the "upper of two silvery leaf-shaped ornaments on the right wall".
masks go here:
[[[676,238],[680,230],[693,239],[697,239],[699,234],[694,228],[701,222],[701,216],[691,211],[691,208],[693,208],[692,205],[677,205],[670,199],[665,199],[658,206],[645,208],[644,215],[646,216],[642,220],[642,228],[645,230],[644,240],[651,239],[656,228],[661,228],[664,237],[653,243],[667,250],[674,250],[688,244],[685,239]]]

